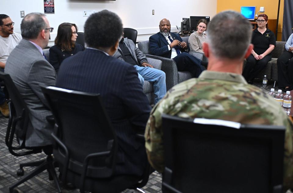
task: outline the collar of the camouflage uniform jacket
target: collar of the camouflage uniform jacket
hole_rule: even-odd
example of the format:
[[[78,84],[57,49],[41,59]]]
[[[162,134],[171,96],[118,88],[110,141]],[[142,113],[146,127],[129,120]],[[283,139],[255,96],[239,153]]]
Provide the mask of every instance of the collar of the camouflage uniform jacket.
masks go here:
[[[230,82],[238,82],[247,84],[244,77],[240,74],[230,73],[230,72],[217,72],[211,70],[204,70],[201,75],[198,77],[199,79],[210,79],[210,80],[226,80]]]

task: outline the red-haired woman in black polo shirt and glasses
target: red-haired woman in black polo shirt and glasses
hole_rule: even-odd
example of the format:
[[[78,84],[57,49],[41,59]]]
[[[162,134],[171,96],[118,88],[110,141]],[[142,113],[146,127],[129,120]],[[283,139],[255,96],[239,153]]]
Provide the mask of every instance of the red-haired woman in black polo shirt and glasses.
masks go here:
[[[242,72],[242,76],[252,83],[257,74],[262,71],[272,59],[271,52],[276,46],[275,34],[268,29],[268,16],[260,14],[257,18],[257,28],[252,32],[251,43],[254,45],[251,55]]]

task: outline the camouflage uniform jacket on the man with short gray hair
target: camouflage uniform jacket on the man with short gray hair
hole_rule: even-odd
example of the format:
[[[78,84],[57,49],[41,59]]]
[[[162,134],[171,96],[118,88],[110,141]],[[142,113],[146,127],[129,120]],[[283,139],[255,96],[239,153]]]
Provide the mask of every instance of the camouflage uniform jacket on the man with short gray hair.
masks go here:
[[[154,106],[145,131],[146,150],[150,164],[161,173],[164,171],[162,113],[191,119],[284,125],[284,185],[293,187],[292,123],[271,96],[247,84],[241,75],[205,70],[197,79],[171,88]]]

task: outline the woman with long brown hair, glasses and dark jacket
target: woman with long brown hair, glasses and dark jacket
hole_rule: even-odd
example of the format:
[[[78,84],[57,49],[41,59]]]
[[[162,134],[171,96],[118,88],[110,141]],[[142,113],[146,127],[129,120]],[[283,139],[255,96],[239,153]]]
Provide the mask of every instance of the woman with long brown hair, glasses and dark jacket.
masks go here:
[[[50,64],[55,68],[56,73],[62,61],[77,52],[83,51],[80,44],[76,44],[78,28],[74,23],[61,23],[58,27],[55,45],[49,49]]]

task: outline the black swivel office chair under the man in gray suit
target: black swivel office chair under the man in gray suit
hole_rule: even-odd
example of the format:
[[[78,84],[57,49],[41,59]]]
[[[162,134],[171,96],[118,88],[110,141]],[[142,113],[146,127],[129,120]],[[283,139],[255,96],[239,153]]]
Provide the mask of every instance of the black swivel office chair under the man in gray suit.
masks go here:
[[[31,179],[32,177],[38,175],[44,170],[48,170],[49,179],[54,180],[55,185],[57,187],[57,191],[61,192],[60,185],[58,182],[58,177],[55,172],[55,168],[53,166],[53,158],[52,158],[52,147],[42,146],[42,147],[27,147],[25,146],[25,137],[27,131],[27,125],[29,123],[29,112],[27,109],[27,105],[24,102],[22,96],[20,95],[18,89],[16,88],[13,80],[9,76],[9,74],[0,72],[0,80],[5,83],[5,88],[9,94],[9,122],[6,131],[5,143],[9,149],[9,152],[15,156],[25,156],[29,154],[40,153],[42,151],[47,155],[46,159],[39,160],[36,162],[29,163],[21,163],[20,169],[17,170],[18,176],[24,175],[23,167],[26,166],[37,166],[33,171],[22,177],[16,183],[9,187],[9,192],[17,192],[14,190],[18,185],[24,183],[25,181]],[[20,144],[19,142],[22,141]],[[20,145],[19,145],[20,144]],[[22,150],[22,151],[20,151]]]

